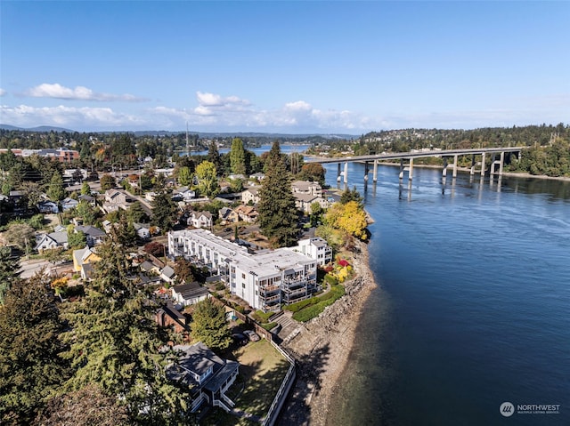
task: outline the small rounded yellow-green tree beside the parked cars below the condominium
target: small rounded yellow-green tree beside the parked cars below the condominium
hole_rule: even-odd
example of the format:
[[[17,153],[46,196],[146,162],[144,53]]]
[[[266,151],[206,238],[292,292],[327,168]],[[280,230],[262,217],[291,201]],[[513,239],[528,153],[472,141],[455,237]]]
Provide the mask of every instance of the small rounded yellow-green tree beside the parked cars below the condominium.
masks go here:
[[[229,348],[232,336],[225,321],[224,306],[209,298],[197,303],[192,314],[191,333],[194,339],[216,352]]]

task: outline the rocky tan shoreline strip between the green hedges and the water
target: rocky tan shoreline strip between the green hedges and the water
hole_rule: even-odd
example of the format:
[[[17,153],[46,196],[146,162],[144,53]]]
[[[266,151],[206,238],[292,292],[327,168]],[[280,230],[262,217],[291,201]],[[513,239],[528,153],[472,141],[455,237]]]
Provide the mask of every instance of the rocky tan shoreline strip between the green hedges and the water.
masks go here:
[[[356,276],[345,283],[346,295],[282,343],[297,360],[297,382],[278,424],[326,424],[330,397],[353,348],[363,305],[377,286],[368,247],[358,242],[353,255]]]

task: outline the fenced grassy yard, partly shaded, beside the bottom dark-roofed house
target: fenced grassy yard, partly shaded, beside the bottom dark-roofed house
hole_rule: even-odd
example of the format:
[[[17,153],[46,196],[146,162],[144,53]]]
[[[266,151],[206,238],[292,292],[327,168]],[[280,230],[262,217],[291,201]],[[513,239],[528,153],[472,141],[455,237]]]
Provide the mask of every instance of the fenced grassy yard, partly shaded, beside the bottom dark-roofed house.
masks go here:
[[[236,350],[233,355],[240,362],[240,375],[227,395],[235,402],[236,410],[263,417],[273,403],[273,398],[287,374],[289,362],[265,339],[250,342],[247,346]],[[215,408],[200,424],[253,425],[258,423],[239,419]]]

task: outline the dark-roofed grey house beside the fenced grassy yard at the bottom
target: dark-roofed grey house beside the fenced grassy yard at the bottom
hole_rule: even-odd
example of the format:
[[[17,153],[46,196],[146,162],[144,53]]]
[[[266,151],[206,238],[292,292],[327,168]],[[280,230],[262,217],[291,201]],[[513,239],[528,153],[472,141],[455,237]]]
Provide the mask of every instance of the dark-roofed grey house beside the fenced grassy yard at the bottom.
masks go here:
[[[172,350],[179,357],[177,362],[167,366],[167,378],[191,388],[191,412],[198,410],[205,401],[226,412],[235,406],[225,392],[235,382],[240,363],[218,357],[202,342],[191,346],[175,345]]]

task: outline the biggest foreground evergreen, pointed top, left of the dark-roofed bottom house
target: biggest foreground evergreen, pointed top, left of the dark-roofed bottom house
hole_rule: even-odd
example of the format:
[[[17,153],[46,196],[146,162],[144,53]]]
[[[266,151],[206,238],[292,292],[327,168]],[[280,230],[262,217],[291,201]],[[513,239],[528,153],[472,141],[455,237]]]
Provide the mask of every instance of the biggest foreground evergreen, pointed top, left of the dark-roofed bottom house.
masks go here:
[[[100,261],[94,279],[85,284],[85,298],[73,303],[64,317],[71,330],[63,334],[76,373],[67,389],[97,384],[123,399],[130,422],[176,424],[183,421],[190,389],[169,382],[166,366],[172,360],[163,335],[154,321],[159,307],[150,294],[137,288],[125,247],[112,233],[99,245]]]

